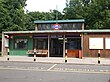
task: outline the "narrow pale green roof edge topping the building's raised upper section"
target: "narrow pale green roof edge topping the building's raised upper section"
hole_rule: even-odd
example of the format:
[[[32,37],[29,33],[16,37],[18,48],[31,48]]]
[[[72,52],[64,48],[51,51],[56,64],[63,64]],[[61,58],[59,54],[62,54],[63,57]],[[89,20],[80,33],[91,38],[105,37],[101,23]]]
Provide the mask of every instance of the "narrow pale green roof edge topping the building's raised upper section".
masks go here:
[[[76,19],[76,20],[36,20],[34,21],[34,23],[37,23],[37,24],[45,24],[45,23],[74,23],[74,22],[84,22],[85,20],[84,19]]]

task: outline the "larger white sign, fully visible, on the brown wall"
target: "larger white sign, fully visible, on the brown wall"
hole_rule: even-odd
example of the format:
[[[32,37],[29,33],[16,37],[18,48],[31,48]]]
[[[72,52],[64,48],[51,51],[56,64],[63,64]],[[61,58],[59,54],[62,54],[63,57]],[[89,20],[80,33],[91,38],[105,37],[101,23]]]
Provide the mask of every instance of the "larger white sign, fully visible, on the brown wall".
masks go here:
[[[89,49],[103,49],[103,38],[89,38]]]

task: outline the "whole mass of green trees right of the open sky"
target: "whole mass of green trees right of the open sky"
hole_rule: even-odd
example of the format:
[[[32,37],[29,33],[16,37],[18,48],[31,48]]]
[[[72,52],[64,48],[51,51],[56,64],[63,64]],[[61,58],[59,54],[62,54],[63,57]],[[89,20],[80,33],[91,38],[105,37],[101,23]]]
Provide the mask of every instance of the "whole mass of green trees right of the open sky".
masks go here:
[[[86,29],[110,29],[110,0],[70,0],[65,19],[85,19]]]

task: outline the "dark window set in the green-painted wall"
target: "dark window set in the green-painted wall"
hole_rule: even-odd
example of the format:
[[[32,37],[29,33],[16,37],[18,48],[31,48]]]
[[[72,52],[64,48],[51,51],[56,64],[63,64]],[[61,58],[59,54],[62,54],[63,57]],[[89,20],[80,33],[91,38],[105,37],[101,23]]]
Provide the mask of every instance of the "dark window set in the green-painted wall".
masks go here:
[[[27,39],[15,39],[14,48],[15,49],[27,49],[28,40]]]

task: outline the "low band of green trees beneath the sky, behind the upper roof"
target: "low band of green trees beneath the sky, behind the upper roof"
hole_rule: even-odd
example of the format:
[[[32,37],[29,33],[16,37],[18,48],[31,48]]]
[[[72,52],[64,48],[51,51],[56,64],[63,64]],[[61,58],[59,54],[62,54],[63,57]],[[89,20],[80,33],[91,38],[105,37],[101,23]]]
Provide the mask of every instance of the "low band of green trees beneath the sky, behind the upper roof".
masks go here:
[[[63,15],[61,12],[57,10],[51,10],[50,12],[29,12],[27,13],[32,18],[32,21],[34,20],[61,20],[63,18]]]

